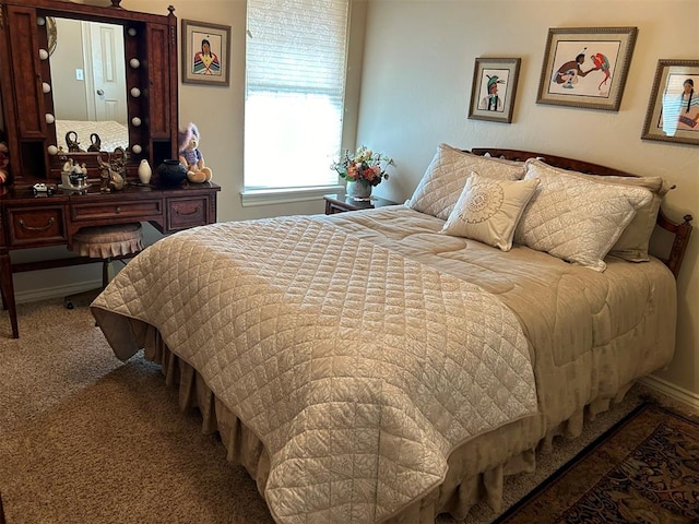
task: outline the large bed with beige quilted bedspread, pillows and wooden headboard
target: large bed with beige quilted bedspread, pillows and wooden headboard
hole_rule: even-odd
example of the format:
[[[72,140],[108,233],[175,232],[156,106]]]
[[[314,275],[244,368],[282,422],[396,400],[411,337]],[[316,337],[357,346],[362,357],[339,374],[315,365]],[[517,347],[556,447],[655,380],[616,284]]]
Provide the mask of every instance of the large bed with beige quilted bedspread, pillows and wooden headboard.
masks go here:
[[[143,349],[178,384],[279,523],[498,511],[503,476],[671,361],[691,217],[660,211],[668,189],[440,144],[404,205],[179,233],[92,311],[119,358]]]

